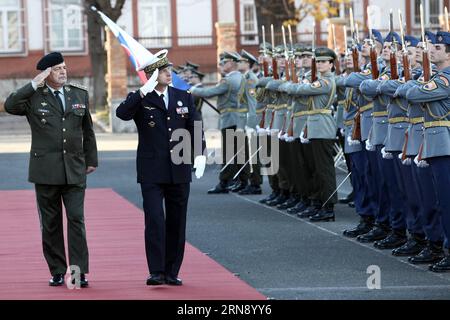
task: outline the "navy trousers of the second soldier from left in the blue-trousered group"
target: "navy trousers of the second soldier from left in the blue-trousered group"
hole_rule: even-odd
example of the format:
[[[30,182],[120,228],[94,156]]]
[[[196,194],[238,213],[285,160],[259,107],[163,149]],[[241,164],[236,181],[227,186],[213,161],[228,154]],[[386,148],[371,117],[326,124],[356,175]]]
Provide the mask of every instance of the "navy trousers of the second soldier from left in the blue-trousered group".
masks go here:
[[[364,175],[366,176],[368,198],[371,208],[375,212],[375,221],[378,224],[389,224],[389,198],[386,194],[386,182],[378,162],[377,151],[368,151],[364,147],[367,163]]]

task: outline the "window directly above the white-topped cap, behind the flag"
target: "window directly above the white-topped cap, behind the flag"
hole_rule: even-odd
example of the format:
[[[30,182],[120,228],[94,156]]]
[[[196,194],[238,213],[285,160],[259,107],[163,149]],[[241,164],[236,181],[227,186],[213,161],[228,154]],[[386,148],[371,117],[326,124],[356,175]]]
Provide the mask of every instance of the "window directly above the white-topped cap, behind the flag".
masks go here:
[[[167,48],[171,41],[170,0],[139,0],[139,38],[147,48]]]

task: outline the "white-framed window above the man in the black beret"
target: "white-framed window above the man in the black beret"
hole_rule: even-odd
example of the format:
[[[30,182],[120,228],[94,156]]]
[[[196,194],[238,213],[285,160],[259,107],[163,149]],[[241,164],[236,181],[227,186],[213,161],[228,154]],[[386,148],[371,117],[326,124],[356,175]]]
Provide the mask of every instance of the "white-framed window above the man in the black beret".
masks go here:
[[[48,31],[50,51],[84,51],[84,21],[81,0],[50,0]]]

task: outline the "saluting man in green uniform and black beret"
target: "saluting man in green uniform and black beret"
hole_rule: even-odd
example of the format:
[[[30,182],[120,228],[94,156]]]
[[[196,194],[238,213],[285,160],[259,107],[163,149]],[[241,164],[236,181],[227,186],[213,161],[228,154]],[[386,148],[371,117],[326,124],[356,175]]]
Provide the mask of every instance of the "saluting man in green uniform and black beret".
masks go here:
[[[32,141],[28,180],[35,184],[42,244],[52,279],[64,283],[67,270],[62,202],[68,221],[69,263],[79,268],[81,287],[88,281],[88,248],[84,226],[86,174],[95,170],[97,146],[89,96],[85,88],[66,84],[63,56],[52,52],[37,64],[41,71],[31,83],[5,101],[8,113],[26,116]],[[77,280],[77,269],[73,269]],[[78,282],[78,281],[76,281]]]

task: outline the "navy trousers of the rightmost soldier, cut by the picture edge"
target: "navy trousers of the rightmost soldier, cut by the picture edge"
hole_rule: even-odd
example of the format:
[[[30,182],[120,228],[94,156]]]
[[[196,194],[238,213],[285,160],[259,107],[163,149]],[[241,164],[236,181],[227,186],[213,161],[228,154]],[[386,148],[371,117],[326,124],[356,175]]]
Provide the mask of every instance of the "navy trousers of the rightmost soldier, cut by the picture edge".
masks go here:
[[[444,231],[444,246],[450,248],[450,156],[426,159],[433,173],[434,189],[441,209],[441,224]]]

